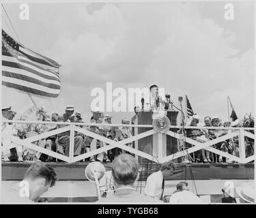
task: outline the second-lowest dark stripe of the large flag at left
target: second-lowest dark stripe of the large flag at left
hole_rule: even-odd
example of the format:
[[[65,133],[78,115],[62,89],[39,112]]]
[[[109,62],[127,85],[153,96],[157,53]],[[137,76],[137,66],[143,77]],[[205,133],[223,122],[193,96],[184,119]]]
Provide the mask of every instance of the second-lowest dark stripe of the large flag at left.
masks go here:
[[[35,84],[40,84],[43,87],[48,87],[48,88],[51,88],[51,89],[61,89],[60,84],[52,84],[52,83],[49,83],[49,82],[42,82],[42,80],[38,80],[36,78],[33,78],[31,76],[26,76],[26,75],[23,75],[23,74],[15,74],[13,72],[6,72],[6,71],[3,70],[2,71],[2,76],[7,76],[7,77],[10,77],[10,78],[16,78],[16,79],[24,80],[24,81],[27,81],[27,82],[33,82]]]

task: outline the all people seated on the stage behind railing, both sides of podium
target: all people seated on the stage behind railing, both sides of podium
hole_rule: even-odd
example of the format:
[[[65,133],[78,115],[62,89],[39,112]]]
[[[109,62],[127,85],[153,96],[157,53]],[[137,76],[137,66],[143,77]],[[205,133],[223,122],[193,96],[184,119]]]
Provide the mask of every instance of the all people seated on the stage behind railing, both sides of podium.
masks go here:
[[[140,111],[139,106],[134,107],[134,116],[132,116],[131,124],[134,124],[137,119],[137,115]],[[92,116],[90,118],[91,124],[111,124],[112,116],[109,114],[104,114],[100,112],[100,110],[91,111]],[[39,121],[53,121],[53,122],[64,122],[64,123],[83,123],[83,118],[81,117],[81,113],[74,112],[74,106],[68,105],[66,106],[66,111],[63,114],[53,113],[51,117],[46,114],[46,112],[42,110],[37,111],[37,116]],[[16,116],[16,112],[12,111],[11,108],[3,108],[2,109],[2,119],[3,121],[8,121],[14,119]],[[21,119],[23,119],[21,117]],[[243,123],[241,120],[236,120],[231,122],[229,120],[222,122],[218,117],[210,117],[205,116],[203,121],[204,125],[199,125],[200,117],[195,114],[188,119],[188,123],[186,126],[195,127],[198,126],[197,129],[180,129],[177,131],[180,134],[184,134],[187,138],[191,138],[196,140],[197,142],[207,142],[209,140],[214,140],[225,134],[228,134],[231,131],[230,129],[214,129],[214,127],[254,127],[254,119],[253,116],[248,115],[244,118]],[[246,125],[244,125],[246,123]],[[130,124],[129,119],[122,119],[122,124],[128,125]],[[62,125],[46,125],[46,124],[27,124],[24,127],[24,123],[3,123],[2,125],[2,145],[14,143],[10,140],[10,136],[17,138],[28,138],[30,136],[34,136],[35,134],[41,134],[45,131],[51,131],[53,129],[58,129],[64,127],[65,124]],[[204,127],[213,127],[213,129],[205,129]],[[114,141],[124,140],[126,138],[130,138],[134,136],[134,128],[130,127],[113,127],[108,125],[80,125],[79,127],[86,128],[88,131],[91,131],[95,134],[99,134],[104,138],[109,138]],[[254,141],[250,138],[245,138],[246,145],[246,156],[250,156],[254,153],[253,144]],[[42,146],[45,149],[49,149],[51,151],[55,151],[57,153],[61,153],[63,155],[69,156],[70,154],[70,131],[61,132],[60,134],[56,134],[55,136],[49,136],[48,138],[38,140],[37,142],[33,142],[34,144],[38,144],[38,146]],[[183,143],[183,142],[182,142]],[[188,149],[192,146],[185,141],[185,143],[180,143],[180,149]],[[74,156],[81,155],[83,153],[87,153],[96,148],[107,146],[106,142],[102,142],[100,140],[94,140],[91,136],[86,136],[85,134],[81,134],[75,131],[74,134]],[[132,142],[126,144],[127,146],[134,147]],[[184,146],[185,145],[185,146]],[[238,156],[238,136],[225,140],[223,142],[218,142],[214,144],[214,148],[227,152],[231,155]],[[122,149],[111,149],[109,151],[105,151],[98,155],[94,155],[85,159],[83,161],[104,161],[106,163],[110,163],[115,159],[117,155],[120,153],[127,153]],[[41,161],[61,161],[59,159],[53,158],[49,155],[42,154],[40,152],[35,152],[32,149],[25,149],[23,146],[15,144],[15,148],[11,150],[5,150],[2,153],[2,158],[4,161],[35,161],[40,159]],[[184,161],[193,161],[195,163],[212,163],[212,162],[229,162],[229,159],[222,157],[221,155],[216,155],[214,153],[210,153],[205,149],[201,151],[197,151],[188,155]]]

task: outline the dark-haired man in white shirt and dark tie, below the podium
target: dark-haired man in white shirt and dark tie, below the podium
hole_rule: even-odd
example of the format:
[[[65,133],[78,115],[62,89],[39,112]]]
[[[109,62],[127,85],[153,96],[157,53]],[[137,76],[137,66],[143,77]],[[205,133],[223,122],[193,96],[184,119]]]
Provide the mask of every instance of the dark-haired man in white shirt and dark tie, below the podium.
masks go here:
[[[173,169],[173,163],[171,161],[167,161],[162,163],[159,171],[148,176],[144,191],[145,195],[163,200],[165,180],[173,174]]]

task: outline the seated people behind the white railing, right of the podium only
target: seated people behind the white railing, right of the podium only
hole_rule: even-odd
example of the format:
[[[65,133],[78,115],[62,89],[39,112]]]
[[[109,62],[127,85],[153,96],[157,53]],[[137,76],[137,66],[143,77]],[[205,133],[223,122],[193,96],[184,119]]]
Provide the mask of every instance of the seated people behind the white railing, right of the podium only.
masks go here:
[[[237,119],[236,121],[221,121],[217,116],[210,117],[205,116],[203,121],[204,125],[199,124],[200,117],[195,114],[190,117],[188,121],[188,126],[196,127],[198,129],[186,129],[186,136],[197,142],[207,142],[210,140],[214,140],[216,138],[220,138],[221,136],[225,136],[226,134],[231,133],[232,131],[236,131],[236,129],[214,129],[214,127],[254,127],[254,119],[251,115],[245,116],[244,121]],[[250,123],[245,126],[244,123]],[[213,127],[213,129],[200,129],[200,127]],[[186,148],[189,148],[191,144],[186,143]],[[239,146],[238,146],[238,136],[229,138],[223,142],[218,142],[213,145],[215,149],[223,151],[225,153],[229,153],[238,157],[239,155]],[[245,147],[246,147],[246,157],[253,155],[254,153],[254,141],[250,138],[245,137]],[[186,159],[186,161],[195,161],[195,163],[203,162],[203,163],[212,163],[212,162],[229,162],[229,159],[223,157],[221,155],[216,155],[215,153],[210,153],[205,149],[197,151],[193,153],[193,157]]]

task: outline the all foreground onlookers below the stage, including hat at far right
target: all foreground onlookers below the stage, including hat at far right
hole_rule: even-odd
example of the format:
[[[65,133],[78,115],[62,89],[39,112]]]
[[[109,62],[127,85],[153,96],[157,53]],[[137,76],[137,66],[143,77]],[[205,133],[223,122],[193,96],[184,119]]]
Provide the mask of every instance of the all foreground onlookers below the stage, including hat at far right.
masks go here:
[[[111,171],[106,172],[100,179],[101,196],[98,196],[98,203],[205,204],[199,196],[189,190],[186,181],[177,183],[176,190],[171,193],[165,191],[165,181],[173,173],[174,168],[171,161],[162,163],[159,171],[148,176],[144,193],[139,193],[134,189],[139,178],[137,159],[126,153],[118,155],[112,163]],[[42,161],[36,161],[25,173],[23,181],[10,189],[3,189],[2,202],[48,202],[47,198],[40,198],[40,196],[49,187],[55,185],[57,177],[57,173],[51,166]],[[240,202],[254,203],[255,186],[248,185],[238,187],[236,191]],[[21,189],[23,190],[20,191]]]

